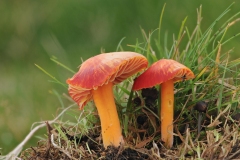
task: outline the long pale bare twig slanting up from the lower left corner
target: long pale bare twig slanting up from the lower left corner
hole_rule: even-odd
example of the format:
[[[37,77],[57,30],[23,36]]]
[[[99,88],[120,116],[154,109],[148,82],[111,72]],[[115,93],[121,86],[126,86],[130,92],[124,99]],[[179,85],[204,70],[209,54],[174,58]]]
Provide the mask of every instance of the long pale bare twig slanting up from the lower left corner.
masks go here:
[[[54,118],[51,121],[48,121],[49,124],[52,124],[56,122],[68,109],[73,107],[75,104],[70,105],[69,107],[65,108],[56,118]],[[23,146],[28,142],[28,140],[34,135],[34,133],[39,130],[40,128],[43,128],[46,126],[45,121],[40,122],[41,124],[34,127],[30,133],[25,137],[25,139],[15,148],[13,149],[10,153],[8,153],[6,156],[1,156],[0,159],[5,159],[5,160],[11,160],[11,159],[16,159],[19,153],[22,151]]]

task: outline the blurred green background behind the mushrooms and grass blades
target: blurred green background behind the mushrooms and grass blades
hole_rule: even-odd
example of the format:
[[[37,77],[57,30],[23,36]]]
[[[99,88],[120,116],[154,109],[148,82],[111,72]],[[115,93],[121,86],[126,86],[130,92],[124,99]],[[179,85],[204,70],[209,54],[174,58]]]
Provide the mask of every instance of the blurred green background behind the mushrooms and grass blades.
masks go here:
[[[123,38],[127,44],[142,40],[140,27],[146,33],[158,27],[161,9],[166,0],[1,0],[0,1],[0,152],[12,150],[30,130],[35,121],[51,120],[61,109],[58,94],[66,88],[50,83],[38,64],[65,83],[72,74],[50,60],[77,71],[83,60],[115,51]],[[182,20],[188,16],[190,31],[196,25],[196,9],[203,6],[202,28],[206,29],[233,1],[172,0],[163,17],[162,32],[178,34]],[[240,11],[236,1],[229,17]],[[229,18],[228,17],[228,18]],[[227,17],[226,17],[227,18]],[[221,22],[218,22],[221,26]],[[228,32],[239,32],[236,24]],[[240,38],[228,44],[238,56]],[[63,98],[65,106],[72,102]],[[77,110],[77,107],[75,108]],[[26,146],[36,146],[33,137]]]

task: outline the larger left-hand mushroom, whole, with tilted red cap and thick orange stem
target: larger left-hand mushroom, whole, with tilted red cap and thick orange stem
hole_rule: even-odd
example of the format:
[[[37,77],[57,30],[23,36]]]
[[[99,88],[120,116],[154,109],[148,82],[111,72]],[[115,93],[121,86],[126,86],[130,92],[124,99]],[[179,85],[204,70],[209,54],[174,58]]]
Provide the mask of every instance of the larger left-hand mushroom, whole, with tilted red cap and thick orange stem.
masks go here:
[[[82,63],[70,79],[69,95],[80,109],[94,100],[101,121],[103,145],[115,147],[123,143],[122,129],[114,101],[113,85],[145,69],[147,59],[135,52],[103,53]]]

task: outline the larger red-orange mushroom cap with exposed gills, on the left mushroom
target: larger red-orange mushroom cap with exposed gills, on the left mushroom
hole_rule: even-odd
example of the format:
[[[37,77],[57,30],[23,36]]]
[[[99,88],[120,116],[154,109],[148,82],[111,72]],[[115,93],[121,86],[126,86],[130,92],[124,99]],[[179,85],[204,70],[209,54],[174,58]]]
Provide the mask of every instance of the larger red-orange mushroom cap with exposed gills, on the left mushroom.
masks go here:
[[[69,94],[80,109],[92,99],[91,90],[112,82],[117,84],[148,66],[147,59],[135,52],[99,54],[82,63],[70,79]]]

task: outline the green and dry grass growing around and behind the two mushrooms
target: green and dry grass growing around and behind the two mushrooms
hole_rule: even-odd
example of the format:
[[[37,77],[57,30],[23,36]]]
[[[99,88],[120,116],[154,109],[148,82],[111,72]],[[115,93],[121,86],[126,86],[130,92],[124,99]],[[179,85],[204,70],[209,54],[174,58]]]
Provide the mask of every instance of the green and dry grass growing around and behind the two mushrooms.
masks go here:
[[[228,31],[240,20],[238,18],[240,12],[228,17],[220,28],[215,27],[217,22],[228,16],[231,7],[232,5],[203,31],[200,6],[197,9],[196,27],[190,31],[191,29],[185,26],[187,22],[185,18],[177,36],[171,37],[172,42],[167,34],[163,37],[161,34],[165,6],[156,30],[147,34],[141,29],[143,39],[137,40],[134,45],[129,45],[133,51],[145,55],[150,64],[161,58],[175,59],[189,67],[196,78],[175,84],[175,141],[172,149],[166,149],[160,140],[158,116],[160,109],[157,108],[159,99],[149,102],[147,101],[149,95],[147,97],[143,95],[144,91],[131,91],[134,77],[115,86],[116,104],[127,142],[125,148],[147,155],[150,159],[239,158],[239,121],[234,117],[239,113],[240,58],[231,60],[234,49],[228,48],[228,44],[240,33],[229,37]],[[119,51],[124,50],[121,42],[117,46]],[[56,59],[52,61],[73,72]],[[42,67],[36,66],[49,75],[53,82],[64,85]],[[147,92],[158,92],[158,87]],[[207,103],[206,113],[199,113],[194,109],[196,103],[201,101]],[[106,158],[108,154],[100,153],[98,156],[96,153],[97,150],[101,150],[101,140],[92,137],[98,135],[100,131],[94,108],[93,103],[89,103],[84,112],[79,112],[80,116],[70,109],[65,110],[60,119],[54,121],[54,127],[48,127],[48,133],[42,137],[43,140],[39,142],[38,147],[27,149],[21,157],[36,156],[36,153],[46,152],[54,155],[57,151],[61,151],[61,156],[69,159]],[[199,114],[202,114],[201,121]],[[141,120],[143,122],[140,122]],[[43,122],[40,125],[45,126]],[[78,140],[86,135],[91,141],[85,146],[79,145]],[[90,145],[90,142],[98,144],[98,149],[92,149],[93,144]]]

